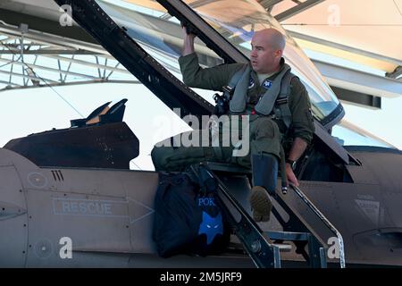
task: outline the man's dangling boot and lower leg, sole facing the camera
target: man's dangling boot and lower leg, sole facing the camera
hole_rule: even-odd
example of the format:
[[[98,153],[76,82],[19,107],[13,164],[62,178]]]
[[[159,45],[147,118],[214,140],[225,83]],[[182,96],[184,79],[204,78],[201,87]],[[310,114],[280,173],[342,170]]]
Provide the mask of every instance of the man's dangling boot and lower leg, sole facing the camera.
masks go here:
[[[268,222],[272,211],[270,195],[275,194],[278,159],[272,155],[253,155],[253,185],[250,205],[255,222]]]

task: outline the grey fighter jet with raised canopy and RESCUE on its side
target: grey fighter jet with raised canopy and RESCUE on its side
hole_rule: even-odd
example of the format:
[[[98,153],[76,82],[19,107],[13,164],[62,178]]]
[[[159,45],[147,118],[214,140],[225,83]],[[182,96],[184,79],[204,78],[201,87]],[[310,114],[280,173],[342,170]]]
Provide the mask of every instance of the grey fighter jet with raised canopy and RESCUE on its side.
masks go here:
[[[130,12],[100,0],[55,2],[71,7],[80,27],[182,116],[212,114],[214,105],[183,84],[169,64],[180,55],[180,42],[171,36],[180,22],[197,32],[205,66],[246,63],[257,29],[287,35],[251,0],[130,0],[138,7]],[[0,149],[0,265],[402,265],[401,151],[384,143],[343,146],[331,135],[337,124],[356,131],[341,122],[344,110],[331,88],[289,35],[284,56],[309,92],[315,133],[297,163],[300,187],[277,190],[270,223],[257,224],[248,215],[247,170],[205,163],[230,205],[231,247],[216,257],[157,257],[151,232],[158,173],[129,170],[139,142],[122,122],[122,100],[72,120],[70,128],[13,139]],[[287,241],[290,249],[281,247]]]

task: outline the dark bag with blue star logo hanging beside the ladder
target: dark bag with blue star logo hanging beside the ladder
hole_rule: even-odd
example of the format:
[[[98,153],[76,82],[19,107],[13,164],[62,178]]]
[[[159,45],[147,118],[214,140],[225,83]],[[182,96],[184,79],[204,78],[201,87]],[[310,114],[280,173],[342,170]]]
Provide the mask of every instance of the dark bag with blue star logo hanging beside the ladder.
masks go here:
[[[230,240],[216,197],[214,180],[197,181],[188,172],[159,174],[153,239],[160,257],[207,256],[222,252]]]

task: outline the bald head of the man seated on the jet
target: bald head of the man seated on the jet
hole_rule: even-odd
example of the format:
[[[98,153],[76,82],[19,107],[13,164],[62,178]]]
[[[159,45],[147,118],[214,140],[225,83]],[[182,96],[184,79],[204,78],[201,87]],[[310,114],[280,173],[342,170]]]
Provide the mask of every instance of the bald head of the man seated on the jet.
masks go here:
[[[277,29],[256,31],[251,39],[250,61],[257,73],[271,73],[280,69],[285,37]]]

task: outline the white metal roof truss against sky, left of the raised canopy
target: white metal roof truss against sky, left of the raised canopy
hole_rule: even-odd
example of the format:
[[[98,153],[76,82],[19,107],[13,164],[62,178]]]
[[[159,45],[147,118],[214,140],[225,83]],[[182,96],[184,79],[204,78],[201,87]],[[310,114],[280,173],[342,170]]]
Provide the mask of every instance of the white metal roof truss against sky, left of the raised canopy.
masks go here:
[[[0,22],[0,91],[96,82],[138,80],[102,46]]]

